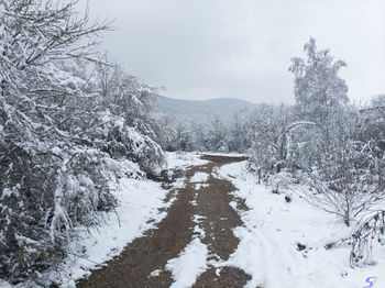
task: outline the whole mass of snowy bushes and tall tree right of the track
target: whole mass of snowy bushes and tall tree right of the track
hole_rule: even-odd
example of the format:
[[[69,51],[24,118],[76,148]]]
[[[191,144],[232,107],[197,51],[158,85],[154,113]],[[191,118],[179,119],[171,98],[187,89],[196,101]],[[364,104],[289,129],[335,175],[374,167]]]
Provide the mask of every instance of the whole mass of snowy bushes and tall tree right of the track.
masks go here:
[[[380,96],[361,110],[349,104],[339,76],[346,64],[317,49],[314,38],[304,51],[307,57],[293,58],[289,67],[296,104],[261,111],[250,133],[250,167],[274,191],[293,189],[352,226],[354,266],[374,239],[384,242],[385,101]]]

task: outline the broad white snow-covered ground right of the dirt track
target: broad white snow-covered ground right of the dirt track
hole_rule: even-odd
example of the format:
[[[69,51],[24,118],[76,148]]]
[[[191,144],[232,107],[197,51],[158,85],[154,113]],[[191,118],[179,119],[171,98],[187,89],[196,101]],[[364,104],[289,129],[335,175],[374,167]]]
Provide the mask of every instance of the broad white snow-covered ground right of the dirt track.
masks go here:
[[[250,208],[241,212],[244,226],[234,230],[240,239],[227,265],[252,276],[246,287],[255,288],[363,288],[385,287],[385,250],[376,253],[375,265],[352,269],[349,245],[326,245],[350,236],[350,230],[333,215],[311,209],[299,197],[274,195],[256,184],[245,162],[222,166],[219,176],[239,190]],[[233,203],[234,209],[237,204]],[[376,284],[371,286],[376,277]]]

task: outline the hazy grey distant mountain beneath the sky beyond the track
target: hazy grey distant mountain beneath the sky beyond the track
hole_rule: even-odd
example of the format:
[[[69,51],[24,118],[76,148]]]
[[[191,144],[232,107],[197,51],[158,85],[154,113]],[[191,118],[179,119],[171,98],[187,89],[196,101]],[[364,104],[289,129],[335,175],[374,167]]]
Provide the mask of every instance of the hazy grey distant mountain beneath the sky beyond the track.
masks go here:
[[[241,109],[252,111],[257,107],[257,104],[252,102],[234,98],[183,100],[162,97],[160,103],[155,107],[154,112],[156,114],[173,114],[177,118],[217,115],[220,119],[227,119]]]

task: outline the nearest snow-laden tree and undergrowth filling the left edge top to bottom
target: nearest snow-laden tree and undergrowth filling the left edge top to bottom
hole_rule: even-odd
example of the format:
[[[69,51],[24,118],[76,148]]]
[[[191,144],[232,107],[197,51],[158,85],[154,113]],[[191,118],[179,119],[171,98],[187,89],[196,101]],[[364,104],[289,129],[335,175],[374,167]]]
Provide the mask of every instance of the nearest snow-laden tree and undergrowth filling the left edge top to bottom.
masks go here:
[[[87,79],[63,60],[92,57],[107,29],[74,14],[75,1],[0,2],[0,277],[18,281],[65,251],[70,228],[114,206],[102,153],[77,145],[89,114]],[[81,129],[81,125],[79,126]]]

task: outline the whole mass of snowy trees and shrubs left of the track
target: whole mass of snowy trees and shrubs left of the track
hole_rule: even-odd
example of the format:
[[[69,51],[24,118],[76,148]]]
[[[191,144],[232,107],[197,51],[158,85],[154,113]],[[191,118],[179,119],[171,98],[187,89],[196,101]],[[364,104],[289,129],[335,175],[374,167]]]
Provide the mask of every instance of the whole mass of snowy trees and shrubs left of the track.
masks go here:
[[[38,280],[114,209],[110,179],[165,163],[160,90],[98,56],[109,23],[77,2],[0,1],[0,278],[13,284]]]

